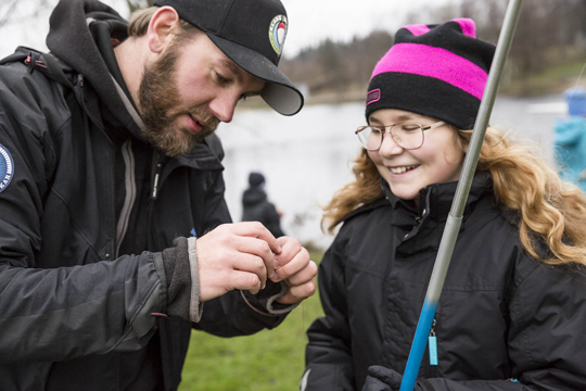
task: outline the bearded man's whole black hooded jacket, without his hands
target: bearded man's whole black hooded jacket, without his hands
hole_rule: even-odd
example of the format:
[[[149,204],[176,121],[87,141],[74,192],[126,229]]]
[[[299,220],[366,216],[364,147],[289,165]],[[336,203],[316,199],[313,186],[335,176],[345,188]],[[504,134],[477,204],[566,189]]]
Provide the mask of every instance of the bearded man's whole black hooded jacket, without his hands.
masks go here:
[[[184,237],[231,222],[219,139],[174,159],[143,141],[113,51],[127,22],[110,7],[62,0],[50,24],[51,54],[18,48],[0,66],[14,167],[0,190],[0,388],[175,390],[192,327],[272,328],[282,285],[184,320]]]

